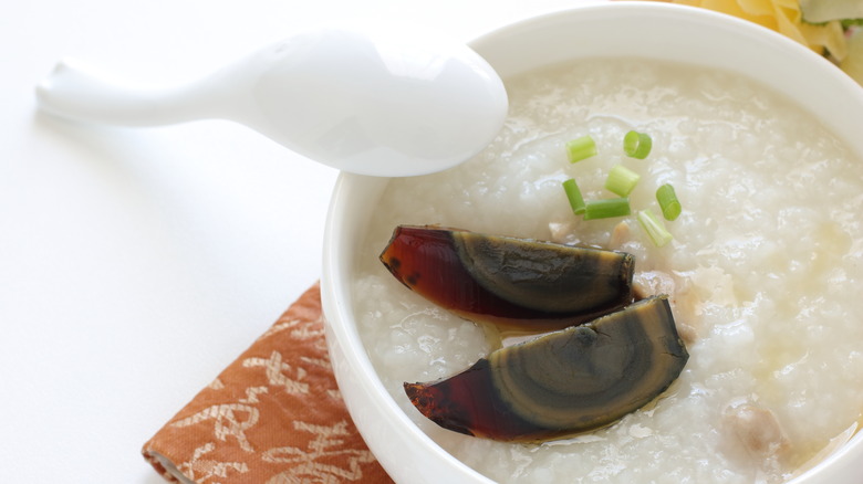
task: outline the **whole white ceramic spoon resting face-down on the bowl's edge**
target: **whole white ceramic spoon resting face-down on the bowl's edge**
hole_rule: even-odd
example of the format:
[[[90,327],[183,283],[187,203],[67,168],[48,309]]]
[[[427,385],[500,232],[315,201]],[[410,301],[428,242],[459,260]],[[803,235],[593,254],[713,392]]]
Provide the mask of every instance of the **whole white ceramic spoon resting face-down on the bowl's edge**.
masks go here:
[[[169,88],[128,87],[65,60],[37,96],[49,113],[98,124],[229,119],[324,165],[387,177],[467,160],[508,108],[500,77],[466,45],[379,25],[310,30]]]

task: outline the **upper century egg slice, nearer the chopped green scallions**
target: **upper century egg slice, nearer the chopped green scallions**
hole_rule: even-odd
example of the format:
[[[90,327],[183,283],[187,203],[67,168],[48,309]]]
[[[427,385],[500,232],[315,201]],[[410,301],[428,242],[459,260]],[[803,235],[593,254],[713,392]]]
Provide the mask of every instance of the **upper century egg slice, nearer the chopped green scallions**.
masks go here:
[[[433,303],[517,329],[560,329],[633,299],[634,261],[622,252],[399,225],[381,261]]]

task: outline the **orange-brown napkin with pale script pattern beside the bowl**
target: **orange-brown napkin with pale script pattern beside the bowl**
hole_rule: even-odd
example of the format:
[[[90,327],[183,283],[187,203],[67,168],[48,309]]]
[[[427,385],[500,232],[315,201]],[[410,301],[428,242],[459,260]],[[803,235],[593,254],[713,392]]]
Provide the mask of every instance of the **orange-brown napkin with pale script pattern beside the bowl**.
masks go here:
[[[335,385],[314,284],[142,450],[168,482],[392,483]]]

